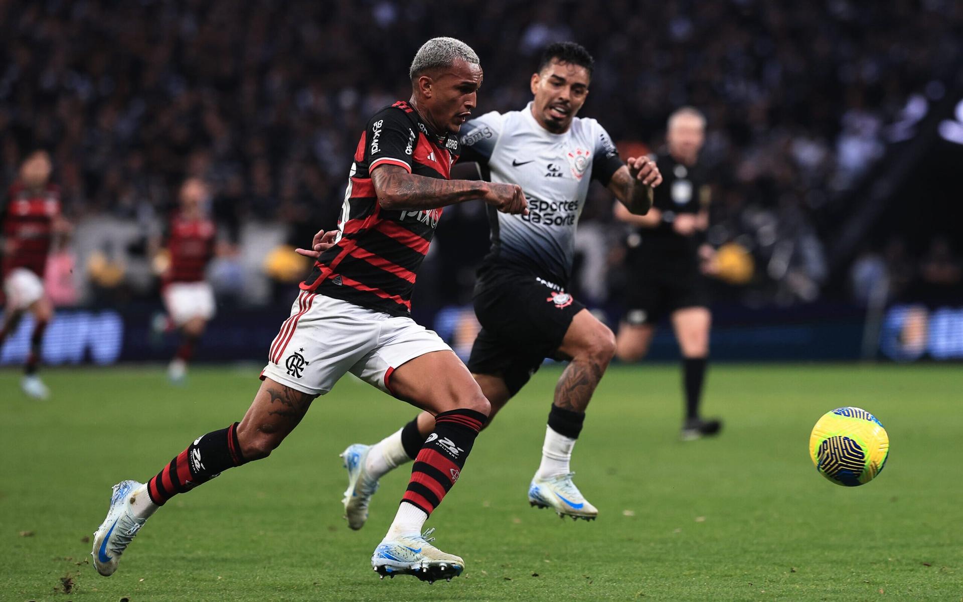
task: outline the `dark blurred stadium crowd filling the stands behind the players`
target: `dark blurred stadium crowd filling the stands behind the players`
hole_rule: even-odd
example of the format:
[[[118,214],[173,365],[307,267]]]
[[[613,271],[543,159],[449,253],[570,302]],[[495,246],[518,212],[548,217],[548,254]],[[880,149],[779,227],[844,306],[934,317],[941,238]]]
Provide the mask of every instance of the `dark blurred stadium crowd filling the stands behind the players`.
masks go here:
[[[246,222],[278,222],[303,245],[336,221],[362,121],[407,97],[406,62],[425,39],[451,35],[478,50],[477,114],[524,106],[538,49],[574,39],[597,61],[583,115],[621,147],[658,147],[680,105],[705,113],[703,161],[717,182],[710,242],[752,253],[757,299],[810,301],[827,276],[820,211],[882,155],[910,95],[963,51],[959,3],[820,4],[3,3],[0,169],[9,183],[26,153],[46,148],[69,218],[110,215],[142,224],[145,237],[180,182],[198,176],[232,237]],[[609,227],[611,198],[594,199],[584,265],[611,268],[623,237]],[[473,250],[446,247],[455,254],[443,261],[477,261],[481,211],[447,217],[460,225],[448,236],[439,228],[439,245],[481,235]],[[599,247],[612,252],[593,254]],[[581,292],[605,301],[615,274],[584,270]],[[455,301],[470,283],[469,270],[434,285]]]

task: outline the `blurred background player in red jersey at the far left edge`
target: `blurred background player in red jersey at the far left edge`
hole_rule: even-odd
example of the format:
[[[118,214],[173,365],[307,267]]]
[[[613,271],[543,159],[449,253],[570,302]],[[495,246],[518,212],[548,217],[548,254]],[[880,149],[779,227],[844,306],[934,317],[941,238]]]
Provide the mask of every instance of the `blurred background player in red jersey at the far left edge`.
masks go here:
[[[46,399],[50,394],[37,375],[43,331],[54,313],[53,304],[43,291],[43,272],[54,237],[69,227],[61,215],[60,190],[50,183],[51,170],[53,166],[46,151],[28,155],[0,206],[0,250],[7,297],[0,345],[25,312],[34,315],[30,353],[20,386],[35,399]]]

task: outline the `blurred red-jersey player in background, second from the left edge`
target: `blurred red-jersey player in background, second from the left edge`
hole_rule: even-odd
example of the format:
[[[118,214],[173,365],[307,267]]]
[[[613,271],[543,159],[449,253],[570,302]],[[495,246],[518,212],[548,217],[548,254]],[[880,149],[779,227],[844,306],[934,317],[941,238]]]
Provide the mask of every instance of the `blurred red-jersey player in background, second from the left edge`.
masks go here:
[[[170,361],[168,376],[180,382],[195,345],[214,317],[214,291],[205,279],[207,265],[218,250],[217,226],[208,217],[210,192],[199,178],[188,178],[178,193],[179,207],[170,220],[163,266],[163,297],[169,321],[180,331],[181,343]]]

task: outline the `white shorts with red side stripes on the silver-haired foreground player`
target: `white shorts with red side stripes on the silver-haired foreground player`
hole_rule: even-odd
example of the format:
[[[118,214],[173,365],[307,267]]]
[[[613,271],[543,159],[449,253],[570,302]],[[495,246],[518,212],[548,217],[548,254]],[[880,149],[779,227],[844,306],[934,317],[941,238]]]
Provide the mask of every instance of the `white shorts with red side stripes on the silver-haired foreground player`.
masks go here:
[[[391,373],[425,353],[452,351],[411,318],[301,291],[261,373],[302,393],[324,395],[346,372],[392,393]]]

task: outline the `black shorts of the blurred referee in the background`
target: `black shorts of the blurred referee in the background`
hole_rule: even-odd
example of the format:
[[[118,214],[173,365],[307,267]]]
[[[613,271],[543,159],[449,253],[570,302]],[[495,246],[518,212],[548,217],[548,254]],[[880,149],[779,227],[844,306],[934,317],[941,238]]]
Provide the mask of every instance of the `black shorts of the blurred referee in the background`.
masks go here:
[[[691,270],[637,270],[628,286],[622,322],[658,324],[685,307],[708,307],[705,276]]]

